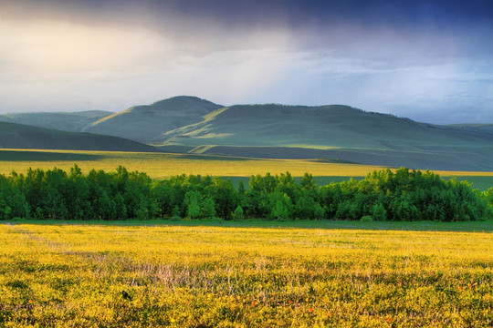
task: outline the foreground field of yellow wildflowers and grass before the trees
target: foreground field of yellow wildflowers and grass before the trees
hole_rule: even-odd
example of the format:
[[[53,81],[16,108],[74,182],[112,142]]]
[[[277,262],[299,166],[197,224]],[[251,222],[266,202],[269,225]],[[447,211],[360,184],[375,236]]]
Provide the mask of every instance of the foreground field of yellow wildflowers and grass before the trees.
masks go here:
[[[0,225],[0,326],[493,325],[491,222],[44,223]]]

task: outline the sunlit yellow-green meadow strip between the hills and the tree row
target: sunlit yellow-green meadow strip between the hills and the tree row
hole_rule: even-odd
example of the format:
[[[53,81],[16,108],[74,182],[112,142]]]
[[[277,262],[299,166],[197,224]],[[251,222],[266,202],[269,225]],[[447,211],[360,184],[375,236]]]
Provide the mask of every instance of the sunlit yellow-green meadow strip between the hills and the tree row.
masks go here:
[[[201,174],[231,177],[234,181],[248,179],[252,174],[264,175],[289,171],[294,177],[309,172],[320,185],[342,179],[362,178],[382,167],[347,163],[327,163],[309,159],[248,159],[193,154],[138,153],[117,151],[0,149],[0,173],[9,174],[13,169],[25,173],[32,169],[68,170],[77,163],[88,172],[90,169],[110,171],[118,165],[129,170],[146,172],[152,179],[173,175]],[[493,187],[493,172],[436,171],[443,177],[467,179],[479,190]]]

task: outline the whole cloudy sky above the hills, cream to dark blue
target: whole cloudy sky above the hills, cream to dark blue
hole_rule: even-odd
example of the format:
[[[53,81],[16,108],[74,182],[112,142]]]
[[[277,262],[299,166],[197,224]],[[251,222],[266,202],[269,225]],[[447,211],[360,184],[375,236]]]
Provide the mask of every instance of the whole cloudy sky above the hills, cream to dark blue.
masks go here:
[[[180,95],[493,123],[490,0],[2,0],[0,114]]]

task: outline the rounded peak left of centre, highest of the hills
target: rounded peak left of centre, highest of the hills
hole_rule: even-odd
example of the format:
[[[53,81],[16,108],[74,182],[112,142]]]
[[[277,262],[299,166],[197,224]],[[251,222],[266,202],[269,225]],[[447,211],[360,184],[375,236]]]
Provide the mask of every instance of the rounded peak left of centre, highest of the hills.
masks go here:
[[[149,142],[174,128],[200,122],[206,114],[221,107],[199,97],[172,97],[101,118],[84,130]]]

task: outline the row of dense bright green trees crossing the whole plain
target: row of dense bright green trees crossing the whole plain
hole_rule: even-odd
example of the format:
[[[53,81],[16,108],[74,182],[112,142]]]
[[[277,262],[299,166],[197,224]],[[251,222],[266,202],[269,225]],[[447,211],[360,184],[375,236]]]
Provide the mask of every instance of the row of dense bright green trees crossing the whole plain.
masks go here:
[[[246,187],[229,179],[179,175],[153,180],[123,167],[83,174],[77,165],[0,175],[0,219],[36,220],[484,220],[493,189],[406,168],[382,169],[365,179],[318,186],[288,173],[251,176]]]

